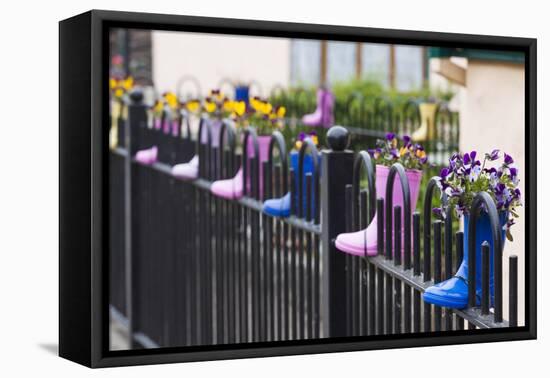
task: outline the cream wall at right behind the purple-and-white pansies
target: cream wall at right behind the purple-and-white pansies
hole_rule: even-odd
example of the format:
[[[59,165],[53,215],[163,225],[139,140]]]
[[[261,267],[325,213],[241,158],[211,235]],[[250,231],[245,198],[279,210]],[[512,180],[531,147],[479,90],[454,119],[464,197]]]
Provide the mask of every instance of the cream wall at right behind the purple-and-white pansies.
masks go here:
[[[466,72],[466,95],[460,109],[460,149],[478,153],[498,148],[512,155],[525,177],[525,71],[522,64],[472,60]],[[520,182],[525,193],[525,179]],[[508,256],[518,256],[519,321],[524,321],[525,212],[512,228],[514,242],[504,248],[504,293],[508,293]],[[508,313],[504,300],[504,313]]]

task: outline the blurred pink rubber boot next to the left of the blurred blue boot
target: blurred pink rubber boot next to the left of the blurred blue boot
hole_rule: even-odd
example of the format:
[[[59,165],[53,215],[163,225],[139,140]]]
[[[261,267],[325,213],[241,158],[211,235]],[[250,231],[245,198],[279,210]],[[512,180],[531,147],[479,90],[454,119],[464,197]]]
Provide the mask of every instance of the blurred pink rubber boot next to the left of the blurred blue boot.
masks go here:
[[[260,153],[259,167],[263,166],[263,162],[267,161],[269,154],[269,143],[271,142],[271,136],[259,136],[258,148]],[[254,157],[254,144],[252,138],[248,138],[247,155],[249,158]],[[263,172],[260,168],[260,196],[263,195]],[[250,192],[252,185],[250,181],[250,175],[248,176],[248,182],[246,183],[247,191]],[[243,169],[239,169],[235,177],[227,180],[218,180],[212,183],[210,187],[212,194],[226,198],[226,199],[239,199],[243,196]]]

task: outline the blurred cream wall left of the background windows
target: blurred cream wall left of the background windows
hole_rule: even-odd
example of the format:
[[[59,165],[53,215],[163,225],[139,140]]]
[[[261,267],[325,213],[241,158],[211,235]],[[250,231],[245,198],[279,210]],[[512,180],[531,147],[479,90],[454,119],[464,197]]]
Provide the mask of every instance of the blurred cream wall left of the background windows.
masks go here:
[[[176,83],[191,75],[202,94],[225,79],[258,82],[263,96],[290,81],[290,40],[186,32],[153,32],[153,80],[160,92],[176,91]],[[222,90],[225,88],[222,87]],[[227,91],[227,89],[225,89]],[[188,85],[183,92],[195,92]]]

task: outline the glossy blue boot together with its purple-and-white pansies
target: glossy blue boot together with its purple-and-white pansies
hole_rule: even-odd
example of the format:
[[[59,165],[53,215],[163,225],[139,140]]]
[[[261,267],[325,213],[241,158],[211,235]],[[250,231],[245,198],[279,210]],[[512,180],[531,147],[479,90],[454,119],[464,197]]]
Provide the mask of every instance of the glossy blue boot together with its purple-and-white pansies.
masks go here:
[[[521,193],[518,189],[518,170],[514,166],[514,160],[510,155],[504,154],[504,162],[498,167],[486,167],[487,162],[499,158],[499,151],[493,150],[485,154],[483,163],[476,160],[476,152],[472,151],[464,155],[455,154],[449,159],[449,166],[443,168],[438,177],[438,186],[442,193],[447,195],[447,205],[442,208],[435,208],[437,216],[443,216],[447,209],[453,208],[459,217],[464,216],[464,257],[454,277],[440,282],[428,289],[423,294],[425,302],[436,306],[449,308],[465,308],[468,305],[468,268],[469,268],[469,228],[470,208],[477,193],[488,193],[495,201],[498,211],[498,222],[504,244],[506,236],[512,241],[510,227],[514,219],[518,217],[517,207],[521,206]],[[493,255],[494,242],[491,231],[491,223],[486,208],[481,210],[476,224],[475,238],[475,282],[476,282],[476,303],[481,298],[481,243],[487,241],[490,247],[489,267],[489,290],[490,297],[493,297],[494,267]],[[491,300],[492,302],[492,300]]]

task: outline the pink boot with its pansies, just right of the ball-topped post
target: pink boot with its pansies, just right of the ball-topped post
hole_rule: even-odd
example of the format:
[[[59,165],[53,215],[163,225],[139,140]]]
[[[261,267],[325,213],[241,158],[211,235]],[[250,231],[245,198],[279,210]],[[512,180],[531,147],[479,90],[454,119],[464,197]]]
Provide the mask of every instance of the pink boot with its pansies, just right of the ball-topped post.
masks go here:
[[[390,167],[394,163],[401,163],[406,168],[406,175],[409,180],[411,194],[411,212],[416,208],[422,181],[421,169],[427,164],[427,155],[424,148],[418,144],[411,143],[411,138],[404,136],[402,146],[398,148],[399,140],[393,133],[388,133],[385,140],[379,140],[374,150],[369,153],[376,165],[376,198],[386,200],[386,185]],[[398,179],[396,180],[398,181]],[[401,185],[396,182],[393,186],[392,201],[394,206],[403,207],[403,194]],[[404,217],[404,212],[403,212]],[[378,251],[378,220],[374,216],[368,227],[356,232],[340,234],[336,238],[336,248],[340,251],[356,256],[374,256]],[[404,227],[404,218],[401,221]],[[392,227],[393,229],[393,227]],[[404,232],[404,231],[402,231]],[[404,247],[404,245],[403,245]]]

